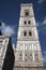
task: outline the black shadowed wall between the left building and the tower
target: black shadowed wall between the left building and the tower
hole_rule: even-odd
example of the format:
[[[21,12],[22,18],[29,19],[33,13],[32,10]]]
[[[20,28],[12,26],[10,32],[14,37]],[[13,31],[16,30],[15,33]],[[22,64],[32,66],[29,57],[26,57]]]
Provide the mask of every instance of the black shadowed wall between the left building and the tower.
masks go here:
[[[15,56],[14,56],[14,51],[12,47],[12,42],[10,39],[9,44],[7,44],[7,48],[5,52],[5,57],[4,57],[2,70],[13,70],[14,61],[15,61]]]

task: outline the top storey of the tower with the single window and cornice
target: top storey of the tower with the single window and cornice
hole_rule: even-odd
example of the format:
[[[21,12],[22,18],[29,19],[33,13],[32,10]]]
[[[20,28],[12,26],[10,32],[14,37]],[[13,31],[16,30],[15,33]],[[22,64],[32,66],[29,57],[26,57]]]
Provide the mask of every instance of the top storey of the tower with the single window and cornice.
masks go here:
[[[29,16],[34,16],[33,14],[33,5],[32,3],[27,3],[27,4],[21,4],[20,5],[21,10],[20,10],[20,16],[22,17],[26,17],[26,13],[29,14]],[[28,16],[28,17],[29,17]]]

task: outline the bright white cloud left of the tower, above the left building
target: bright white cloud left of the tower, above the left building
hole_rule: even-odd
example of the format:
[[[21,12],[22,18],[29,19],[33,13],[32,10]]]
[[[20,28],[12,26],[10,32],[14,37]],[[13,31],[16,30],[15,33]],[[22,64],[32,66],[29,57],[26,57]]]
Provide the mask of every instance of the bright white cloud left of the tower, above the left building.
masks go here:
[[[15,34],[14,26],[6,26],[4,23],[2,23],[2,33],[3,34]]]

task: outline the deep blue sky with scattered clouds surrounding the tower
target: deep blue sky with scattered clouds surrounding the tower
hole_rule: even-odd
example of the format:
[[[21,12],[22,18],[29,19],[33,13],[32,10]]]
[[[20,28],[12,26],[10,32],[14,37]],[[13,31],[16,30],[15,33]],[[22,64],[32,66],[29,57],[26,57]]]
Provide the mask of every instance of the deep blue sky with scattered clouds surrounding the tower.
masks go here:
[[[0,20],[3,23],[2,33],[11,34],[12,42],[16,44],[21,3],[33,4],[42,54],[44,64],[46,64],[46,0],[0,0]]]

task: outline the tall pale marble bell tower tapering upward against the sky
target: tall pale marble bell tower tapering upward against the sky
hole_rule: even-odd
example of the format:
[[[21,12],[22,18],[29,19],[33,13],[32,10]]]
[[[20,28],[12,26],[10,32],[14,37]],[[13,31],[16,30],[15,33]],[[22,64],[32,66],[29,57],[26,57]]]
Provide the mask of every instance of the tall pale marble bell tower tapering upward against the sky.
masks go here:
[[[21,4],[17,44],[16,70],[44,70],[43,57],[32,3]]]

